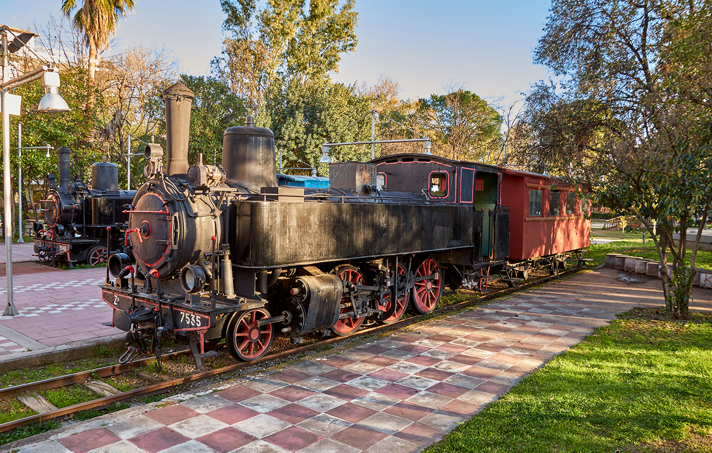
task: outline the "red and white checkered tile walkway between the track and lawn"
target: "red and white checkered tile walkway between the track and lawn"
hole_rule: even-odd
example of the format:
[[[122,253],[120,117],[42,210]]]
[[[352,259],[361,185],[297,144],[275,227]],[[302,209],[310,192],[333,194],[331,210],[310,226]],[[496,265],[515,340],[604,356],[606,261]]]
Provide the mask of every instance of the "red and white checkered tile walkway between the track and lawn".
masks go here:
[[[21,453],[419,452],[633,307],[659,280],[602,268],[355,348],[3,446]],[[712,291],[693,289],[696,301]]]

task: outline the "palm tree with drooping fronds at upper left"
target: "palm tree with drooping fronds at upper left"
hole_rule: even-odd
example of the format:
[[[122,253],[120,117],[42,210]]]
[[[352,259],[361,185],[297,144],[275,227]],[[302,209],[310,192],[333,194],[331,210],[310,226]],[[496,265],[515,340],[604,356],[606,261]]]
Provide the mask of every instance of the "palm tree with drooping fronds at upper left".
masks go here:
[[[76,7],[77,0],[62,0],[62,13],[69,18]],[[133,9],[133,0],[84,0],[83,6],[74,14],[74,26],[84,32],[89,48],[89,82],[92,85],[99,50],[108,46],[110,35],[116,33],[117,19]]]

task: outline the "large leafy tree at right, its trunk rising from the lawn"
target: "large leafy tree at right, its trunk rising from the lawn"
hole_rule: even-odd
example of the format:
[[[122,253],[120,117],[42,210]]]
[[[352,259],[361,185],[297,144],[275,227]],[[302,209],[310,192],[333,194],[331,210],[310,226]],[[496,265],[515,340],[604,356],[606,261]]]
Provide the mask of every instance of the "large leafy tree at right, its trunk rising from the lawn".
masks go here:
[[[681,42],[688,50],[709,47],[708,34],[693,31],[691,22],[709,11],[706,0],[554,0],[535,49],[535,62],[562,76],[563,88],[561,108],[549,110],[549,127],[538,129],[551,134],[548,143],[538,137],[540,153],[555,172],[592,191],[594,201],[640,218],[656,245],[666,307],[676,318],[688,313],[701,235],[698,230],[688,261],[686,231],[694,218],[706,220],[712,196],[708,112],[685,91],[709,60],[682,51]],[[684,65],[671,70],[674,55]],[[584,120],[571,121],[572,110]],[[567,154],[581,143],[585,154]],[[676,230],[679,240],[673,240]]]

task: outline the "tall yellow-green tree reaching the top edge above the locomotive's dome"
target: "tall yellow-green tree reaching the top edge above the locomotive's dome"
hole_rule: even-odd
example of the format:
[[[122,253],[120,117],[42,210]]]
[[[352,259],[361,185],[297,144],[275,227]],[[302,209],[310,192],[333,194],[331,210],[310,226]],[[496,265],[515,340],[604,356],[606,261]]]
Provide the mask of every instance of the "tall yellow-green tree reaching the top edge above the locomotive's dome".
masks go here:
[[[216,74],[258,114],[273,83],[305,84],[328,80],[341,54],[356,48],[355,1],[221,0],[227,15],[223,58],[213,60]]]

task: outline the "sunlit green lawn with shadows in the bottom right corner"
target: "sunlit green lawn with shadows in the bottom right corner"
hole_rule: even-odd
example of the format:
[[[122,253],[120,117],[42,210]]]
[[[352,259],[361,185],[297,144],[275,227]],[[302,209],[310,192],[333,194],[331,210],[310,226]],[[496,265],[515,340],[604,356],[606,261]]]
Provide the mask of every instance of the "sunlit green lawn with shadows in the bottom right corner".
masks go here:
[[[712,452],[712,316],[635,309],[426,453]]]

